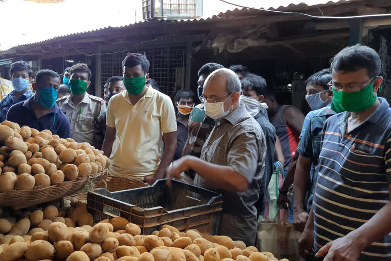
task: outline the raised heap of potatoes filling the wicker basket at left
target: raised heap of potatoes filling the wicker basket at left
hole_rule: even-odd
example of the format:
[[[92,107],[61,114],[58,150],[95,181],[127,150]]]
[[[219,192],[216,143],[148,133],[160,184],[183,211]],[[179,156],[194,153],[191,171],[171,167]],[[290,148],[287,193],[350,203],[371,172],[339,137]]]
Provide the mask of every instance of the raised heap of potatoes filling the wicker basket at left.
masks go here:
[[[87,142],[10,121],[0,124],[0,145],[0,192],[46,188],[102,172],[110,164]]]

